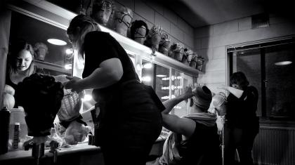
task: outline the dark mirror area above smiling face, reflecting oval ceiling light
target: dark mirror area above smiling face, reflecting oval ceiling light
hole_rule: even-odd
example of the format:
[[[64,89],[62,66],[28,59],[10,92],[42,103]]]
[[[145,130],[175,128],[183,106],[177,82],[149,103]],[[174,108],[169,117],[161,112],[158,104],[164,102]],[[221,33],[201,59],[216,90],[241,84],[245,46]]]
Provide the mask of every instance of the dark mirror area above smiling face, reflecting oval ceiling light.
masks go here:
[[[53,76],[71,74],[72,45],[67,41],[65,29],[12,12],[10,34],[10,42],[25,39],[34,47],[36,72]],[[55,40],[50,43],[48,39]]]

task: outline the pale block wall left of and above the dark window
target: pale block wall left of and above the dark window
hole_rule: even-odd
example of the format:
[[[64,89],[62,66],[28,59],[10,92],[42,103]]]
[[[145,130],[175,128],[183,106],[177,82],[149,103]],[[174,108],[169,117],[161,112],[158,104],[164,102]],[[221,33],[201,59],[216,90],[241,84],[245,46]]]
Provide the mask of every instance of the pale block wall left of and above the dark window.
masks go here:
[[[270,15],[269,27],[258,29],[251,29],[251,17],[195,29],[195,50],[208,60],[198,83],[206,84],[213,92],[218,92],[217,86],[226,84],[226,46],[291,34],[295,34],[294,20],[277,15]]]

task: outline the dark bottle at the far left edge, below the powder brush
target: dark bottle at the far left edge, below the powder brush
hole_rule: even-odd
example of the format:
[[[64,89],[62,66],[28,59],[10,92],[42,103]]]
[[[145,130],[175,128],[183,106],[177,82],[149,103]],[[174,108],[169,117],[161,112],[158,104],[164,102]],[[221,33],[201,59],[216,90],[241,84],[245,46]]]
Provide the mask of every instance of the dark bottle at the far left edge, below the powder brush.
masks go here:
[[[3,107],[0,111],[0,154],[8,152],[9,139],[9,122],[11,119],[11,112],[7,107]]]

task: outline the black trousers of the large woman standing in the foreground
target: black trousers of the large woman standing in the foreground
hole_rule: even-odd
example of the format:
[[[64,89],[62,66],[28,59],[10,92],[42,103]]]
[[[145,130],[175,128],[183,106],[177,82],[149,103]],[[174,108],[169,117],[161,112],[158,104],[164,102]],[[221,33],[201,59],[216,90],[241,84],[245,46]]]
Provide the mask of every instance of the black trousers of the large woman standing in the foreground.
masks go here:
[[[102,124],[106,165],[144,165],[162,131],[162,114],[145,87],[131,81],[106,102]]]

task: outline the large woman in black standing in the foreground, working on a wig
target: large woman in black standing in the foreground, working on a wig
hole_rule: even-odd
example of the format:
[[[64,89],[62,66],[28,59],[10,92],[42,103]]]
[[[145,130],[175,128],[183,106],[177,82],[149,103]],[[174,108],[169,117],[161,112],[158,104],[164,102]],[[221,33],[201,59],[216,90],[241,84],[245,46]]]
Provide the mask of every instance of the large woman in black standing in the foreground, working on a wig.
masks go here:
[[[140,83],[131,59],[109,33],[86,15],[70,22],[67,35],[79,57],[85,59],[83,79],[70,79],[65,88],[93,88],[100,118],[96,145],[105,164],[145,164],[162,130],[162,110],[157,99]]]

